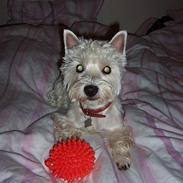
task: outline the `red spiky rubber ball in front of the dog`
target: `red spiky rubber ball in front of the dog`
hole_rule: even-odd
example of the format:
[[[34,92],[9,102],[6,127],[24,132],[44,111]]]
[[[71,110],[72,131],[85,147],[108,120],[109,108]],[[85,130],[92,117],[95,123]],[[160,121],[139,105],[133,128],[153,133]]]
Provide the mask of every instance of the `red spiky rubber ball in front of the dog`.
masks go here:
[[[54,145],[45,164],[56,178],[72,182],[87,176],[94,161],[92,147],[85,140],[73,138]]]

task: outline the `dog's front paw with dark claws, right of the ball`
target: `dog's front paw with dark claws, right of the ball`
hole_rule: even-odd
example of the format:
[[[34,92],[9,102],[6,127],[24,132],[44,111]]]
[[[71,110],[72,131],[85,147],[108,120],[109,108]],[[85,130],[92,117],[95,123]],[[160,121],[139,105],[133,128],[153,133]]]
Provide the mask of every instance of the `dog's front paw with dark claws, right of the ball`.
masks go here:
[[[113,158],[119,170],[128,170],[130,168],[131,166],[130,154],[126,156],[115,155]]]

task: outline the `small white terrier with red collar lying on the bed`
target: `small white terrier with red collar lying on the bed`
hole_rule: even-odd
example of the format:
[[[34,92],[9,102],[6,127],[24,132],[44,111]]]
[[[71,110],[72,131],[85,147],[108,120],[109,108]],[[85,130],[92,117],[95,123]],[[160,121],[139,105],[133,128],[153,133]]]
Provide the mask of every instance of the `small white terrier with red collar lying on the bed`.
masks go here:
[[[123,121],[118,96],[126,65],[127,32],[119,31],[110,41],[98,41],[64,30],[63,38],[63,77],[48,94],[50,104],[62,108],[51,117],[56,140],[89,132],[104,134],[114,162],[126,170],[134,141]]]

